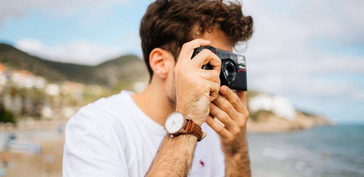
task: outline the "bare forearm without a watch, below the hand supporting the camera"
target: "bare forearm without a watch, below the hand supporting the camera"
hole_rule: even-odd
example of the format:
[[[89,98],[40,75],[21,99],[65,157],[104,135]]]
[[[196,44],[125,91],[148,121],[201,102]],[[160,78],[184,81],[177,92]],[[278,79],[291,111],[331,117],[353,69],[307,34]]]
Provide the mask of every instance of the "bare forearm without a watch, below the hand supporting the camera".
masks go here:
[[[225,155],[226,177],[250,177],[248,146],[244,146],[232,156]]]

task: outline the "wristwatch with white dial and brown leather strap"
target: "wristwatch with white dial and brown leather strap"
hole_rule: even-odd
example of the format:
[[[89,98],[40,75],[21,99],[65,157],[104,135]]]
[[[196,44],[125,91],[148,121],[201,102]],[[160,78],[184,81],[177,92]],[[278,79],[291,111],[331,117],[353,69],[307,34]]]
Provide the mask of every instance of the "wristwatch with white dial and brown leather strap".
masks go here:
[[[198,137],[197,141],[201,141],[206,136],[192,119],[177,111],[168,115],[164,129],[171,137],[191,133]]]

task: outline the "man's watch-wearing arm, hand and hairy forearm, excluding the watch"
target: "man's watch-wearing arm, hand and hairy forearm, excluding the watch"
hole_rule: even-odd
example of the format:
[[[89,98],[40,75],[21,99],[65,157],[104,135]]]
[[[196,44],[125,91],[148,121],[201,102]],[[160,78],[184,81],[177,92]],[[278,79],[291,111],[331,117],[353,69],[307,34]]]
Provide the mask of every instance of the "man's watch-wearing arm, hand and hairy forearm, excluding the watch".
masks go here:
[[[174,67],[176,111],[182,112],[201,126],[209,115],[209,104],[220,87],[221,60],[210,50],[202,50],[193,59],[195,48],[210,45],[210,41],[196,39],[182,46]],[[203,70],[210,63],[213,70]],[[197,136],[182,134],[166,136],[158,149],[146,176],[187,176],[191,167]]]

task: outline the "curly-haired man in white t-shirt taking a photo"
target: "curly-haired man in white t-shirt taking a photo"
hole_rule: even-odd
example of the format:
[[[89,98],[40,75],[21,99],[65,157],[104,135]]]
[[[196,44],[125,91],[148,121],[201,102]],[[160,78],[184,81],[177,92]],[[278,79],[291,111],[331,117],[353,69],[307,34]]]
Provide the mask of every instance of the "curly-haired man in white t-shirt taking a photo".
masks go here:
[[[140,26],[149,85],[99,99],[70,119],[63,176],[250,176],[246,92],[220,87],[221,60],[210,50],[191,57],[207,45],[232,52],[250,38],[252,24],[236,3],[150,4]],[[207,63],[213,70],[201,69]],[[167,134],[164,125],[174,111],[192,119],[206,137]]]

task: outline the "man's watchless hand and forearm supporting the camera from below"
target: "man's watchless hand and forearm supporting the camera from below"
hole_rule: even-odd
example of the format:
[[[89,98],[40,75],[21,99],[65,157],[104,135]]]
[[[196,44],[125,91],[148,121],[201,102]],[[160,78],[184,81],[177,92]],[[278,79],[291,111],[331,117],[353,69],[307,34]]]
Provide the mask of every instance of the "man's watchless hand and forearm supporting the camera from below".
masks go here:
[[[245,139],[246,121],[249,117],[246,109],[246,91],[235,94],[229,87],[221,86],[220,92],[221,94],[210,103],[210,114],[225,127],[211,116],[206,119],[206,123],[220,136],[221,149],[225,154],[226,176],[250,176]]]

